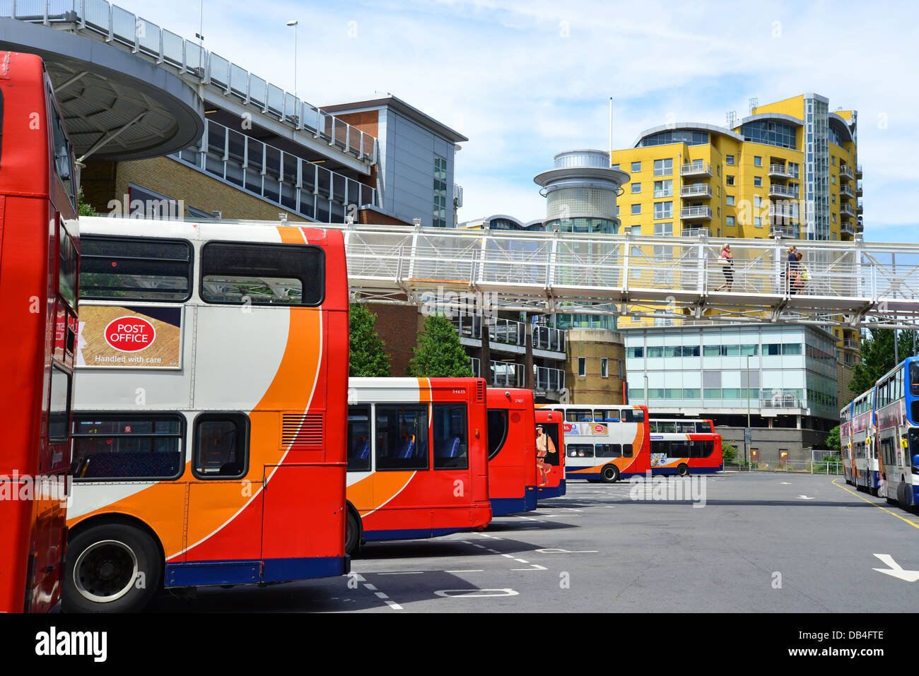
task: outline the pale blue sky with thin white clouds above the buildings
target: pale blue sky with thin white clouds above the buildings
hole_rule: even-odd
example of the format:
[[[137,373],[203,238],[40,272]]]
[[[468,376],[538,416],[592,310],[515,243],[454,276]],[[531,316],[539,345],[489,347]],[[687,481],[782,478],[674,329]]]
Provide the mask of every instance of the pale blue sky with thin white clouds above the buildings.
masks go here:
[[[193,38],[199,5],[119,6]],[[858,111],[865,239],[914,242],[919,87],[912,3],[366,0],[204,2],[205,46],[329,105],[391,92],[468,136],[456,159],[459,220],[541,218],[533,176],[556,152],[614,148],[668,121],[805,92]]]

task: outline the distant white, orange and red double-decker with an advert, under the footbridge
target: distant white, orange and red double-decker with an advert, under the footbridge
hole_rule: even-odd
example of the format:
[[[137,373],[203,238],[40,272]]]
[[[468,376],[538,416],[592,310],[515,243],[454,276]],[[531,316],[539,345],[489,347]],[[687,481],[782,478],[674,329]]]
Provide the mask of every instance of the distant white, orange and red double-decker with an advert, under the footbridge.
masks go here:
[[[565,418],[565,479],[612,483],[644,476],[651,469],[646,407],[547,404],[546,408],[561,411]]]

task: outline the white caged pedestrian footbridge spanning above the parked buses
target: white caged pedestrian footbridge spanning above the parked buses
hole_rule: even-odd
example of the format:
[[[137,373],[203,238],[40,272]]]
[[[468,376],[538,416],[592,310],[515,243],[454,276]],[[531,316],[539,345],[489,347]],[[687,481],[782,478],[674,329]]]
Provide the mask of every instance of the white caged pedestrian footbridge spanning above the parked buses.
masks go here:
[[[919,327],[917,244],[326,227],[345,232],[349,284],[363,301],[459,305],[468,301],[453,294],[465,292],[530,313]],[[799,288],[789,288],[791,244],[807,270]]]

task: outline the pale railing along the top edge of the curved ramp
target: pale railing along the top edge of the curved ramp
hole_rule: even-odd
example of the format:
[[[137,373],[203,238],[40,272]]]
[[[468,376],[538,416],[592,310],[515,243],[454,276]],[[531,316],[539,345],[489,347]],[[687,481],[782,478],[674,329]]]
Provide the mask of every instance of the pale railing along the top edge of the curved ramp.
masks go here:
[[[202,49],[198,43],[106,0],[0,0],[0,17],[74,28],[77,33],[87,31],[106,42],[124,45],[157,65],[170,66],[185,78],[212,85],[223,96],[259,109],[296,130],[312,133],[342,152],[376,161],[377,140],[373,136]]]

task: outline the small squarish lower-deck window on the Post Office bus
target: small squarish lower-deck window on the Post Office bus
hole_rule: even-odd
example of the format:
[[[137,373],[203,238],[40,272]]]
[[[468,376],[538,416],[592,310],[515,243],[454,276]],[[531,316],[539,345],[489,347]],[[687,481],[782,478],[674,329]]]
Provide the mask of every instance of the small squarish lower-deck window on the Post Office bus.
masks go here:
[[[195,419],[192,468],[199,479],[241,479],[249,465],[249,418],[202,413]]]

